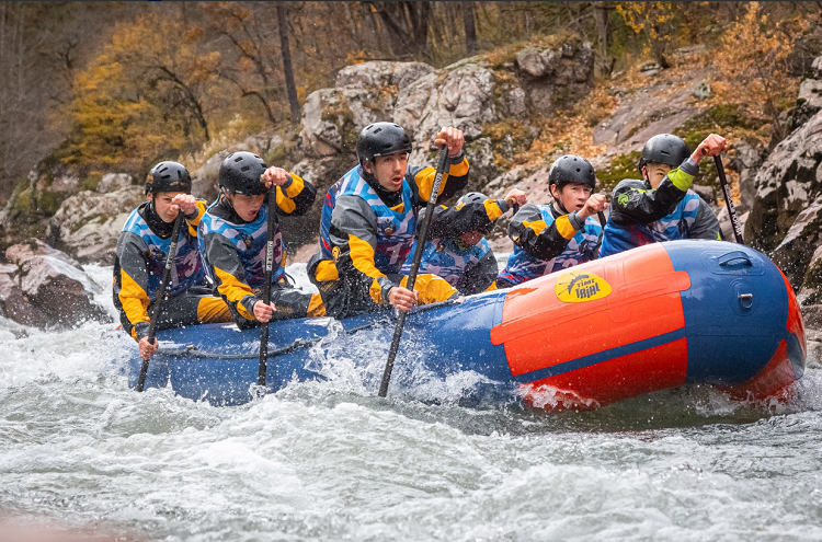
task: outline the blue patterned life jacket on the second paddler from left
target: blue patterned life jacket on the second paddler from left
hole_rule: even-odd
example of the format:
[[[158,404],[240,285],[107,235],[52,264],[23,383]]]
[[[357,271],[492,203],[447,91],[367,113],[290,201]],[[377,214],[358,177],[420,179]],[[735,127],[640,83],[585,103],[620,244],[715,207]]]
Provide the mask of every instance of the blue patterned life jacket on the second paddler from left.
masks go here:
[[[265,282],[265,245],[269,233],[269,206],[263,204],[260,207],[258,217],[244,224],[237,224],[208,212],[219,198],[208,206],[206,214],[199,221],[201,251],[205,253],[204,237],[209,233],[218,233],[228,239],[237,249],[237,255],[246,274],[244,282],[252,290],[262,289]],[[285,277],[283,268],[283,255],[285,246],[283,244],[283,233],[279,230],[279,221],[275,220],[274,226],[274,255],[272,262],[272,284],[278,282]]]

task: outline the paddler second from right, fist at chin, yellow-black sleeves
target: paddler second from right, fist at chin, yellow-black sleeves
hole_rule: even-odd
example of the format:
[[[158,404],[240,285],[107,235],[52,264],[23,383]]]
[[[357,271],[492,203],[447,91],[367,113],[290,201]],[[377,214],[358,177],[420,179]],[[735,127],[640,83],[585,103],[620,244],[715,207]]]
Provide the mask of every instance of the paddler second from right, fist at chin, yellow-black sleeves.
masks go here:
[[[592,194],[596,175],[582,157],[558,158],[548,173],[550,205],[524,205],[509,224],[514,251],[496,278],[509,288],[596,258],[602,224],[597,214],[608,204]]]

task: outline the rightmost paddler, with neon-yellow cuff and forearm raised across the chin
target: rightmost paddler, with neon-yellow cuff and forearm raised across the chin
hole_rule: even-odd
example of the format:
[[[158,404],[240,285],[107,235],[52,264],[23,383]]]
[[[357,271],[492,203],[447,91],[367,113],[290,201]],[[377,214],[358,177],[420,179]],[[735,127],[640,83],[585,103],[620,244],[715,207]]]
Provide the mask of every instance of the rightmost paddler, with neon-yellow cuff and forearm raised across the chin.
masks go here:
[[[724,138],[716,134],[693,153],[672,134],[649,139],[639,160],[642,180],[627,178],[614,188],[600,256],[676,239],[720,239],[717,216],[690,186],[699,161],[727,148]]]

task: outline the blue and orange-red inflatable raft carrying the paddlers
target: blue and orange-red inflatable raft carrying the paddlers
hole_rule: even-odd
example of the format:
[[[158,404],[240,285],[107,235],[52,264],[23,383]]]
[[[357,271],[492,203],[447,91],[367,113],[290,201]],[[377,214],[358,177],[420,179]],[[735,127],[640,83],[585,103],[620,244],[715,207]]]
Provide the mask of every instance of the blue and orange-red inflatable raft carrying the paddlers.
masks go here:
[[[363,378],[376,394],[392,331],[388,312],[273,323],[267,391],[329,378],[327,361],[347,356],[370,364]],[[158,338],[146,388],[171,385],[220,405],[252,399],[259,330],[209,324]],[[804,360],[799,304],[766,256],[720,241],[674,241],[412,311],[389,394],[420,374],[473,371],[483,385],[548,408],[593,408],[685,384],[764,399],[801,378]],[[132,387],[139,369],[135,348]]]

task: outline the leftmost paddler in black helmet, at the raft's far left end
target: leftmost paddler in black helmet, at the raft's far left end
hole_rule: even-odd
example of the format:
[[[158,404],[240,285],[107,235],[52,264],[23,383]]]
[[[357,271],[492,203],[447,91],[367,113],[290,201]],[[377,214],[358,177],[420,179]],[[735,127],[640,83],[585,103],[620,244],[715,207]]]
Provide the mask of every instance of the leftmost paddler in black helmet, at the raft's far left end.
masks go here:
[[[157,330],[231,321],[226,302],[210,295],[213,284],[197,246],[197,226],[205,212],[205,200],[194,198],[191,188],[191,175],[182,164],[160,162],[151,168],[146,177],[147,200],[132,211],[117,238],[114,305],[123,328],[137,341],[144,359],[159,347],[157,339],[148,342],[150,314],[179,212],[185,221]]]

